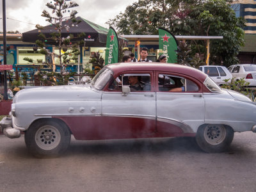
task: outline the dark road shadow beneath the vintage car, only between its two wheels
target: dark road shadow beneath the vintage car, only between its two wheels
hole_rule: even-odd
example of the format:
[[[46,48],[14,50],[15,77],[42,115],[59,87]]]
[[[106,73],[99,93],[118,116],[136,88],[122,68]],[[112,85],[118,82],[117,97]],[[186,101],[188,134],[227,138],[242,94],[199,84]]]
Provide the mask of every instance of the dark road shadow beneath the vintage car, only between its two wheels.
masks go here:
[[[195,138],[153,138],[137,140],[72,140],[66,155],[70,154],[154,154],[156,152],[202,152]]]

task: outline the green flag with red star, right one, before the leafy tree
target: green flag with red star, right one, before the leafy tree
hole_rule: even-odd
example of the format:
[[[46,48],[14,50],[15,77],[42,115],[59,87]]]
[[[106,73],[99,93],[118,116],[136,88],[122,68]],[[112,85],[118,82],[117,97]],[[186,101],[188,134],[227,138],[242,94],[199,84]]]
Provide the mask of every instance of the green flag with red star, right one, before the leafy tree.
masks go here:
[[[177,40],[170,31],[159,28],[159,49],[168,58],[167,63],[177,63]]]

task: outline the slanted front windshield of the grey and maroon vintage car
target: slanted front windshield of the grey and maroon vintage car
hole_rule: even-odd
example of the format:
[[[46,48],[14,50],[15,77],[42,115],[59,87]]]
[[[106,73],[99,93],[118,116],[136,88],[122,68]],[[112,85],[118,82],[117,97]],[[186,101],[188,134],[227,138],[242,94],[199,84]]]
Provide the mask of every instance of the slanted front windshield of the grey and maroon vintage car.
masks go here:
[[[109,68],[102,68],[92,79],[91,85],[97,90],[102,90],[112,76],[113,72]]]

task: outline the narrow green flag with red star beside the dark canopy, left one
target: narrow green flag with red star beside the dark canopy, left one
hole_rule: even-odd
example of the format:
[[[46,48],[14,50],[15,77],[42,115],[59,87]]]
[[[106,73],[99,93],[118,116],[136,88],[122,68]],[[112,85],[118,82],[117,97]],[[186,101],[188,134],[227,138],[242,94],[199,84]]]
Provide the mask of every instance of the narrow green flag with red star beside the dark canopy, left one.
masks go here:
[[[111,63],[118,63],[118,37],[115,29],[110,27],[107,37],[105,65]]]

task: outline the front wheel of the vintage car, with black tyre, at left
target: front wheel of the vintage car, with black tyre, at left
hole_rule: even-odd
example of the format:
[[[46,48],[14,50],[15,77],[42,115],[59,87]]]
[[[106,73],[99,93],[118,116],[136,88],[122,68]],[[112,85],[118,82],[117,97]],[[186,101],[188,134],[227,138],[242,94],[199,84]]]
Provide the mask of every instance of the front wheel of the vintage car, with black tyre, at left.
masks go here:
[[[62,122],[42,120],[26,131],[25,143],[35,157],[56,157],[68,148],[70,132]]]

